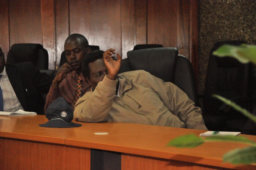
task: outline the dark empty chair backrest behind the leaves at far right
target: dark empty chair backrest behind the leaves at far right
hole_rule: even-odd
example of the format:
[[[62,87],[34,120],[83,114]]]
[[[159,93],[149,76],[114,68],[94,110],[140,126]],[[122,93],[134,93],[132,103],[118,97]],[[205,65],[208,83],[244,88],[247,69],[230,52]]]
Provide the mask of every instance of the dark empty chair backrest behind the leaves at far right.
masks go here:
[[[231,57],[222,58],[212,54],[223,44],[240,45],[242,43],[245,41],[217,42],[211,50],[203,99],[204,113],[216,115],[219,107],[223,105],[222,101],[212,97],[213,94],[231,100],[250,95],[252,65],[242,64]],[[239,115],[242,116],[240,113]]]

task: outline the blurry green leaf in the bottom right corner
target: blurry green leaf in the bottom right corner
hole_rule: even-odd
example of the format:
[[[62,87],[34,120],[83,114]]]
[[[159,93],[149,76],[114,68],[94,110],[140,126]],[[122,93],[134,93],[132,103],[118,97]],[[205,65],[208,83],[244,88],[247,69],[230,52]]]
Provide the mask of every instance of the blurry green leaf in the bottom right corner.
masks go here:
[[[232,150],[224,155],[223,162],[230,162],[235,165],[255,163],[256,147],[245,147]]]

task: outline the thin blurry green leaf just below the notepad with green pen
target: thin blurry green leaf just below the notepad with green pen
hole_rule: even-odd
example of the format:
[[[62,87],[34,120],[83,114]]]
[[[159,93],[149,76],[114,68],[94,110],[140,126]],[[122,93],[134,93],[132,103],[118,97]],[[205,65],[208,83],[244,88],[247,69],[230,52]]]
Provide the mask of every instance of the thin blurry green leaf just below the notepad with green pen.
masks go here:
[[[210,136],[204,139],[205,142],[238,142],[249,145],[255,145],[253,141],[243,136]]]

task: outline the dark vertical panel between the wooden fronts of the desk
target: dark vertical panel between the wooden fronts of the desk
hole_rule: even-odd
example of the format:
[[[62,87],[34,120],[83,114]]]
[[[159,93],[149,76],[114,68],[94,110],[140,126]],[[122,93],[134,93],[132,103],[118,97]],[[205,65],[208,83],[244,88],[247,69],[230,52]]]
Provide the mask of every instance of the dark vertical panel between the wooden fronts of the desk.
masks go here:
[[[91,149],[91,170],[121,170],[121,153]]]

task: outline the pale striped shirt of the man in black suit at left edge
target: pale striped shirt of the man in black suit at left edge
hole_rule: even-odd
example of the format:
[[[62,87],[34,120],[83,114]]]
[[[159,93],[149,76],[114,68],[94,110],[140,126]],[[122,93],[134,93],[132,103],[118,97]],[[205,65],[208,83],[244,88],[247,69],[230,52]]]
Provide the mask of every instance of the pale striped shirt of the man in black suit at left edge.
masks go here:
[[[0,75],[2,75],[2,77],[0,78],[0,86],[3,93],[4,111],[16,112],[19,109],[24,110],[11,86],[11,83],[8,79],[8,75],[5,68],[0,73]]]

